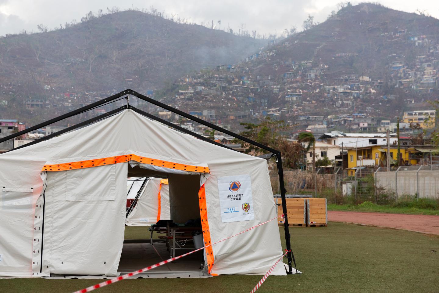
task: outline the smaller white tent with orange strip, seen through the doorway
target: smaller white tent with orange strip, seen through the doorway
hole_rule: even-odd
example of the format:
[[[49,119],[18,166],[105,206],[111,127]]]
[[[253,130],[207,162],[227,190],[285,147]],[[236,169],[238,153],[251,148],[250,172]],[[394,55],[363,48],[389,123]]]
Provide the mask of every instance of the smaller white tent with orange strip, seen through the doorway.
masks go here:
[[[127,226],[150,226],[159,220],[170,220],[168,180],[148,178],[134,204],[126,217]]]

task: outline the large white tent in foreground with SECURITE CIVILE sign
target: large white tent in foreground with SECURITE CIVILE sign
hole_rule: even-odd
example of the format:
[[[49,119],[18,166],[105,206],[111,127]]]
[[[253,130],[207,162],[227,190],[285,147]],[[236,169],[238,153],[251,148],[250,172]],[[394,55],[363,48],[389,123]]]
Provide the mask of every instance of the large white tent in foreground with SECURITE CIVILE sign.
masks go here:
[[[171,219],[201,217],[206,244],[277,215],[265,159],[123,110],[0,154],[0,276],[117,275],[127,177],[167,177]],[[205,251],[210,274],[265,274],[277,221]],[[277,266],[273,274],[284,275]]]

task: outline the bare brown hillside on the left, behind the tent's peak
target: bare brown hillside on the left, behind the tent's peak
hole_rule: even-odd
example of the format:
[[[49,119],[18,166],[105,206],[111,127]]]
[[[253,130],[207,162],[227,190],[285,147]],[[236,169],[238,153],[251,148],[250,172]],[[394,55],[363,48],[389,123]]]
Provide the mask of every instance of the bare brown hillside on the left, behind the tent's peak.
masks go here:
[[[63,29],[0,38],[0,99],[10,103],[11,116],[15,108],[25,117],[31,115],[22,111],[28,98],[157,89],[192,70],[236,63],[265,44],[140,11],[90,17]]]

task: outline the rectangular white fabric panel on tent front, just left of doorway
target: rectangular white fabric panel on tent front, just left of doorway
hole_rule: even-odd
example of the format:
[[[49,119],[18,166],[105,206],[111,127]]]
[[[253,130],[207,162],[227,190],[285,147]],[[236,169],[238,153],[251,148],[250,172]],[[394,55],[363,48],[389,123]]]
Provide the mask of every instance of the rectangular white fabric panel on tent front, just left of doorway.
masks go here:
[[[114,200],[115,170],[116,164],[67,171],[65,200]]]

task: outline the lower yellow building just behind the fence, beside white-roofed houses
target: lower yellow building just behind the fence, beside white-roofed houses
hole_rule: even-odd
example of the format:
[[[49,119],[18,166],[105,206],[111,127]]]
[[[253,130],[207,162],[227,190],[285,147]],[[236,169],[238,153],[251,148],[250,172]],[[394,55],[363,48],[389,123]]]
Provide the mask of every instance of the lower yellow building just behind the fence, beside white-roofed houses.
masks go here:
[[[401,147],[399,152],[404,162],[409,162],[410,165],[417,165],[417,159],[413,159],[410,154],[419,153],[415,148],[403,148]],[[385,145],[371,145],[363,148],[350,148],[348,149],[348,174],[353,176],[355,174],[355,168],[359,166],[363,167],[378,167],[386,165],[386,153],[387,146]],[[398,148],[394,145],[390,146],[390,158],[391,164],[393,160],[396,160]]]

